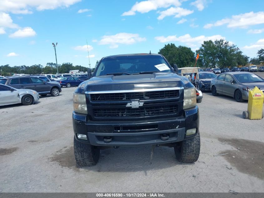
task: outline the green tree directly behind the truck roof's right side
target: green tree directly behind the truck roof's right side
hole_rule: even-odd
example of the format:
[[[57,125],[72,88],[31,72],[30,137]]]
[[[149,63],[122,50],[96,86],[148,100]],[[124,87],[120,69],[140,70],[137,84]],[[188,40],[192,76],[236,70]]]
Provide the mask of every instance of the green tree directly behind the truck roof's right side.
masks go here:
[[[159,50],[159,54],[162,54],[173,66],[174,63],[181,67],[194,66],[195,54],[191,48],[185,46],[176,47],[175,44],[167,44],[162,49]]]

